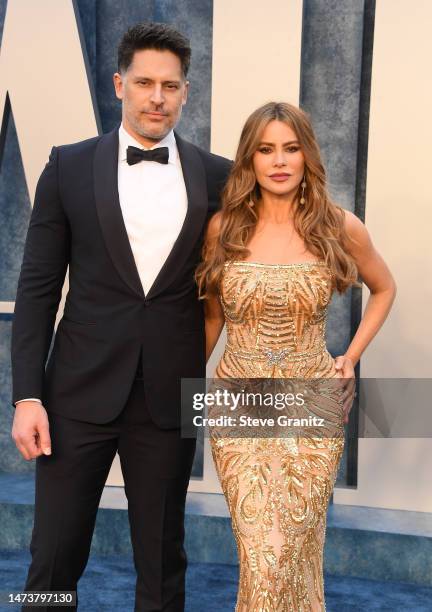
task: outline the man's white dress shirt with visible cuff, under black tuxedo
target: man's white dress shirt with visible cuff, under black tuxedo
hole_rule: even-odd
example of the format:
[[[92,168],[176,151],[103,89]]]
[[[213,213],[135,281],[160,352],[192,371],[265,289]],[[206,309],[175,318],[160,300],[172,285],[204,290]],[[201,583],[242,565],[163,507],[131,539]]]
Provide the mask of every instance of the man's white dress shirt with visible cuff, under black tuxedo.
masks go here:
[[[129,166],[128,146],[146,149],[119,128],[118,191],[120,207],[144,293],[153,285],[171,252],[187,211],[187,193],[174,132],[151,149],[168,147],[168,164],[141,161]],[[26,398],[19,402],[38,401]]]

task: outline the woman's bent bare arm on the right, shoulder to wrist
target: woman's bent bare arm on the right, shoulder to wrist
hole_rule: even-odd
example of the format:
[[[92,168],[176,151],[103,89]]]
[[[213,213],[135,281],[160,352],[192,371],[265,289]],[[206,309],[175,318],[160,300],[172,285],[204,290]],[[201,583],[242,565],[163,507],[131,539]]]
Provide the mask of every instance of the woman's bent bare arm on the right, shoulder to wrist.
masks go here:
[[[345,212],[346,230],[352,239],[349,250],[370,291],[360,325],[344,355],[355,366],[387,318],[395,299],[396,283],[387,264],[375,250],[365,225],[353,213]]]

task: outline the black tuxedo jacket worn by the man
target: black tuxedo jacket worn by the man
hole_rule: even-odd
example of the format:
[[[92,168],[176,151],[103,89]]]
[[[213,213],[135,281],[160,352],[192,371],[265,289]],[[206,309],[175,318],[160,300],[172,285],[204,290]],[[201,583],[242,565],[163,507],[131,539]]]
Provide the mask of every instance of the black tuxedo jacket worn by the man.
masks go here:
[[[39,397],[48,412],[108,422],[126,403],[142,351],[148,410],[162,428],[179,425],[181,378],[205,376],[194,271],[231,163],[175,137],[188,209],[147,295],[121,214],[118,129],[53,148],[36,189],[18,282],[13,403]],[[64,315],[46,363],[68,265]]]

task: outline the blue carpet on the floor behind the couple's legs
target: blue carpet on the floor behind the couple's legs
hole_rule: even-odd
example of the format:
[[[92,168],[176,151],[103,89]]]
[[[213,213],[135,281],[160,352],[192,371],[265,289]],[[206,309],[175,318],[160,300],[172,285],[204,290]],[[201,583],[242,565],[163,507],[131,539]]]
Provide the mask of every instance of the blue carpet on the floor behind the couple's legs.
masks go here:
[[[0,552],[0,591],[23,588],[30,555]],[[191,563],[187,574],[187,612],[232,612],[237,591],[235,566]],[[132,612],[135,570],[126,556],[90,557],[79,584],[80,612]],[[326,576],[327,612],[431,612],[432,588],[362,578]],[[1,606],[1,612],[19,609]],[[35,608],[37,611],[38,608]]]

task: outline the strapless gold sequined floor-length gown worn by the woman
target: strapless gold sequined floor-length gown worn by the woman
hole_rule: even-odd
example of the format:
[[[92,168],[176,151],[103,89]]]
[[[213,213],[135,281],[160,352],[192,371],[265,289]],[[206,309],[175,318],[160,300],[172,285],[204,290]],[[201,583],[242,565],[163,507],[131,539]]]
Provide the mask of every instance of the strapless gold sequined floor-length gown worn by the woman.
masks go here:
[[[324,339],[331,294],[323,262],[225,264],[215,378],[336,377]],[[238,547],[236,612],[325,610],[326,512],[344,445],[341,403],[332,406],[333,437],[210,436]]]

